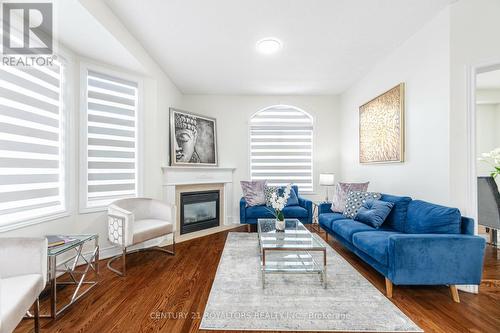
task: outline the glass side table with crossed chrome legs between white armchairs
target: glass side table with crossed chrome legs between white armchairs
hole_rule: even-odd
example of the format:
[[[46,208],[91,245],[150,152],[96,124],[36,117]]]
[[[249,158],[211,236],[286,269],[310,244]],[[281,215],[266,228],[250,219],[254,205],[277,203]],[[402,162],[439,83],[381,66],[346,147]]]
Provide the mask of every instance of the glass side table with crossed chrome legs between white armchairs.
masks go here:
[[[94,235],[65,235],[75,239],[72,242],[50,247],[48,255],[48,284],[50,286],[50,314],[42,314],[42,318],[57,318],[70,305],[85,296],[98,283],[99,278],[99,236]],[[90,254],[85,257],[83,248],[91,244]],[[57,262],[58,256],[64,256],[61,262]],[[69,257],[68,257],[69,256]],[[80,262],[80,266],[78,266]],[[83,263],[83,264],[82,264]],[[68,277],[64,281],[58,281],[62,276]],[[91,279],[93,275],[93,278]],[[57,286],[74,286],[75,290],[69,302],[58,308]]]

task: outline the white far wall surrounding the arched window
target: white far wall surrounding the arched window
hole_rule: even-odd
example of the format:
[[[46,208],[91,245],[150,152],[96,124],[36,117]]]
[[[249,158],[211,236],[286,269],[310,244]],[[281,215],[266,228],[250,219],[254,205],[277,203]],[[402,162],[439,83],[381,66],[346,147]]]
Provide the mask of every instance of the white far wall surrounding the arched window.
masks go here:
[[[219,165],[235,167],[234,207],[238,219],[241,197],[240,180],[250,178],[248,121],[257,111],[268,106],[296,106],[314,118],[314,192],[313,199],[323,199],[325,189],[318,185],[320,172],[339,172],[340,149],[338,101],[334,96],[218,96],[184,95],[183,109],[217,119]],[[166,123],[165,123],[166,124]],[[165,131],[167,132],[167,131]],[[331,194],[330,194],[331,197]]]

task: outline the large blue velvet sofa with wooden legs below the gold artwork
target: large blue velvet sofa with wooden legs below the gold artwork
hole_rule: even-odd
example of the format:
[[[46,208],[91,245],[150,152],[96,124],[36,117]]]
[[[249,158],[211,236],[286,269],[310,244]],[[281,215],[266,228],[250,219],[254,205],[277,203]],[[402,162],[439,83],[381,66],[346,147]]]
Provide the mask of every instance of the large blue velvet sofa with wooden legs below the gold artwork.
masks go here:
[[[382,226],[375,229],[333,213],[320,205],[319,224],[344,247],[385,276],[387,296],[395,285],[456,285],[481,282],[485,241],[473,236],[474,221],[456,208],[410,197],[383,194],[394,203]]]

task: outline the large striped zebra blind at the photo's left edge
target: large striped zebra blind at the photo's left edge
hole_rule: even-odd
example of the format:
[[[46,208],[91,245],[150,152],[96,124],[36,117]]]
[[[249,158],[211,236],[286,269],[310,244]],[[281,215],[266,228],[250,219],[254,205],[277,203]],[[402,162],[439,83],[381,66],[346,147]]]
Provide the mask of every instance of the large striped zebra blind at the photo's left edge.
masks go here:
[[[0,227],[66,211],[64,67],[0,67]]]

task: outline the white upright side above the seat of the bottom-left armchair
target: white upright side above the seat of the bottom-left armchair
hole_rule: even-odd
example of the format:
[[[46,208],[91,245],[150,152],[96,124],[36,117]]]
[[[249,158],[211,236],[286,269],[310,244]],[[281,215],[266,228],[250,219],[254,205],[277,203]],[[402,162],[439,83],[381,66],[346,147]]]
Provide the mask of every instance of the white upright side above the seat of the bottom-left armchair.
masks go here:
[[[47,238],[0,238],[0,277],[41,274],[47,279]]]

